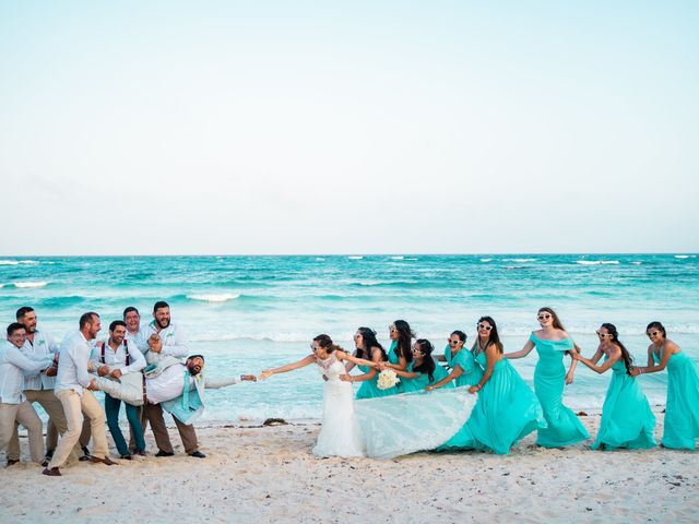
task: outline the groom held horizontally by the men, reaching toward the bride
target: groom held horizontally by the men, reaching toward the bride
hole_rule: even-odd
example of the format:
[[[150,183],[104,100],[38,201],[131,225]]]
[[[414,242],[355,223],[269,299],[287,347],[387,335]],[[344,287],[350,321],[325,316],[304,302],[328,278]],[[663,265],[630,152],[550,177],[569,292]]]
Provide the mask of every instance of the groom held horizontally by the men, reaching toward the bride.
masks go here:
[[[204,389],[218,389],[240,381],[256,381],[253,374],[210,379],[201,372],[204,357],[192,355],[185,364],[164,356],[141,373],[122,374],[119,381],[104,377],[92,379],[92,385],[134,406],[161,404],[182,424],[191,424],[204,412]]]

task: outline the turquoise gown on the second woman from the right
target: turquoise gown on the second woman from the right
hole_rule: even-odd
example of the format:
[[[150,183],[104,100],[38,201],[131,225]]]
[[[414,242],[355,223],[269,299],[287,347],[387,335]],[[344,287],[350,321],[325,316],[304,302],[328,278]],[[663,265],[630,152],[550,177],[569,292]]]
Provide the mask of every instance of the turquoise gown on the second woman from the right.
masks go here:
[[[608,357],[605,356],[606,361]],[[612,381],[602,407],[602,422],[593,450],[629,448],[649,449],[656,445],[653,438],[655,415],[638,380],[626,372],[624,360],[612,366]]]

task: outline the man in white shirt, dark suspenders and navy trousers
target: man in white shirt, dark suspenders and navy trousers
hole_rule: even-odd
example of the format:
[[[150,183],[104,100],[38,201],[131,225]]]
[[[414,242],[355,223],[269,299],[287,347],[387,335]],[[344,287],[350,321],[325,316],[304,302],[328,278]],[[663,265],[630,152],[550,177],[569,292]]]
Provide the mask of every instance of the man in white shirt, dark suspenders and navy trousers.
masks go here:
[[[129,373],[138,373],[145,368],[145,358],[135,344],[126,338],[127,324],[120,320],[115,320],[109,324],[109,340],[95,346],[92,350],[92,361],[97,369],[97,374],[106,379],[117,381]],[[107,426],[114,439],[121,458],[131,460],[131,453],[123,440],[121,428],[119,428],[119,409],[121,401],[108,393],[105,394],[105,412],[107,414]],[[145,455],[145,441],[143,440],[143,428],[138,408],[126,404],[127,419],[131,428],[131,434],[135,438],[135,452]]]

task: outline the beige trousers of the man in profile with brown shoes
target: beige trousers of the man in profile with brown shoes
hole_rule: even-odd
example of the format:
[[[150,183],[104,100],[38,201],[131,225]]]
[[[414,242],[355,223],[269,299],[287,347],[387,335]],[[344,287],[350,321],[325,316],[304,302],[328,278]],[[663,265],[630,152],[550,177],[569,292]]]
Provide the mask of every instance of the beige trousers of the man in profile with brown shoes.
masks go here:
[[[97,458],[107,456],[107,431],[105,429],[105,410],[102,404],[92,394],[92,391],[83,390],[83,394],[79,395],[74,391],[59,391],[56,396],[63,406],[66,421],[68,422],[68,431],[58,440],[58,446],[54,452],[54,457],[48,467],[60,467],[63,465],[71,451],[80,440],[80,433],[83,427],[83,414],[90,419],[90,429],[92,430],[93,451],[92,455]]]

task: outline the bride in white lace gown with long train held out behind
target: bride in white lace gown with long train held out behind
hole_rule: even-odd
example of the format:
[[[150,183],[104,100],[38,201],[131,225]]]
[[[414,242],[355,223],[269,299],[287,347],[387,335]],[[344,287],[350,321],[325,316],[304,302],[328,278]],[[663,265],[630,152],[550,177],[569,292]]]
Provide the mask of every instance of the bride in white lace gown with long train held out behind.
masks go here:
[[[317,456],[394,456],[433,450],[465,424],[476,396],[466,388],[431,393],[391,395],[353,401],[344,361],[376,368],[356,358],[322,334],[311,343],[312,354],[294,364],[262,371],[260,380],[316,364],[325,388],[322,427],[313,448]]]

